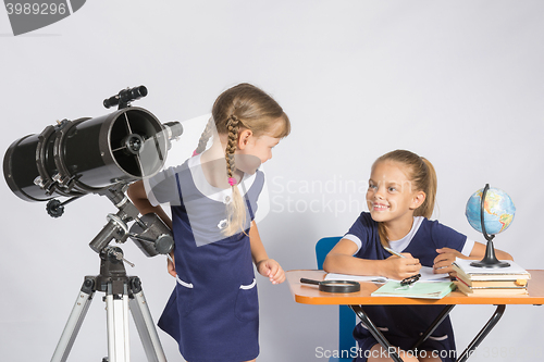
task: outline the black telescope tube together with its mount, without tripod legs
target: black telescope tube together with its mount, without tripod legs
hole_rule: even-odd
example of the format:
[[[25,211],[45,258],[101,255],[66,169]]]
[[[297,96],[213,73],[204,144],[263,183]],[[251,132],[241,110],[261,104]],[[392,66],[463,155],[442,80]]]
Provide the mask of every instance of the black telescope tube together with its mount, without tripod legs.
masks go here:
[[[64,205],[88,195],[108,197],[119,209],[108,215],[108,224],[90,242],[101,252],[115,239],[131,237],[148,257],[168,253],[173,246],[171,232],[156,215],[138,217],[125,196],[126,188],[158,173],[164,165],[171,141],[183,127],[178,122],[161,124],[149,111],[131,102],[146,97],[145,86],[127,88],[103,101],[119,105],[110,114],[58,121],[40,134],[15,140],[5,152],[5,182],[25,201],[48,201],[47,212],[59,217]],[[61,202],[53,197],[67,197]],[[133,228],[127,223],[135,221]]]

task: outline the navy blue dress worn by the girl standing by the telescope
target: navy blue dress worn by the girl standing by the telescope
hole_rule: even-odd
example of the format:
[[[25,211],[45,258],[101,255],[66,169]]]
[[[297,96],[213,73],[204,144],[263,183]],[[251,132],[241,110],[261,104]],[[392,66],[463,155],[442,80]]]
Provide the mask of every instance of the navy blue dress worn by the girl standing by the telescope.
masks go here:
[[[225,238],[231,190],[210,186],[199,157],[146,182],[152,203],[170,202],[177,284],[159,320],[190,362],[240,362],[259,354],[259,302],[248,232],[264,176],[245,175],[246,234]],[[154,202],[153,202],[154,201]]]

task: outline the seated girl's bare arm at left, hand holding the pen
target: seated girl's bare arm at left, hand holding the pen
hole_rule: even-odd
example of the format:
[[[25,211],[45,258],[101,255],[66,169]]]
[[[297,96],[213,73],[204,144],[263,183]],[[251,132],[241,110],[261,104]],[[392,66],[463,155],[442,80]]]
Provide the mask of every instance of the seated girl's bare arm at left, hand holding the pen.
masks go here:
[[[370,260],[354,257],[357,245],[348,239],[342,239],[329,252],[323,262],[323,270],[327,273],[350,275],[386,276],[392,279],[404,279],[417,274],[421,269],[419,259],[410,253],[403,253],[406,258],[396,255],[385,260]]]

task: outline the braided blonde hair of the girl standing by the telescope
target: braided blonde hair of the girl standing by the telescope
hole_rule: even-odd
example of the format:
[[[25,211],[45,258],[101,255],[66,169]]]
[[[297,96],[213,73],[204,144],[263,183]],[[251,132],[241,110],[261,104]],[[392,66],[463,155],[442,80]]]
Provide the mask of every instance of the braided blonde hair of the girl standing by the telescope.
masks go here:
[[[287,114],[277,102],[258,87],[243,83],[223,91],[212,108],[212,117],[208,122],[196,153],[201,153],[215,127],[219,135],[227,135],[225,149],[226,177],[231,178],[236,171],[234,153],[238,142],[238,132],[250,129],[254,137],[270,134],[274,138],[284,138],[290,133]],[[227,204],[227,226],[225,236],[245,232],[246,201],[236,185],[232,185],[232,201]]]

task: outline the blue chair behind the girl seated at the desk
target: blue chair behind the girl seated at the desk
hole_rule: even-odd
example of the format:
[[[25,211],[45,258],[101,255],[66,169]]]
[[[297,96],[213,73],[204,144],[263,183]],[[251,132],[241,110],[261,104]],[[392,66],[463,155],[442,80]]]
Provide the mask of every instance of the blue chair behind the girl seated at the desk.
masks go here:
[[[332,248],[342,239],[342,237],[322,238],[316,244],[316,257],[318,259],[318,269],[323,269],[325,257]],[[354,327],[357,324],[357,317],[347,305],[339,305],[338,317],[338,352],[341,355],[350,355],[351,348],[356,347],[356,341],[353,336]],[[350,358],[331,357],[329,362],[351,362]]]

